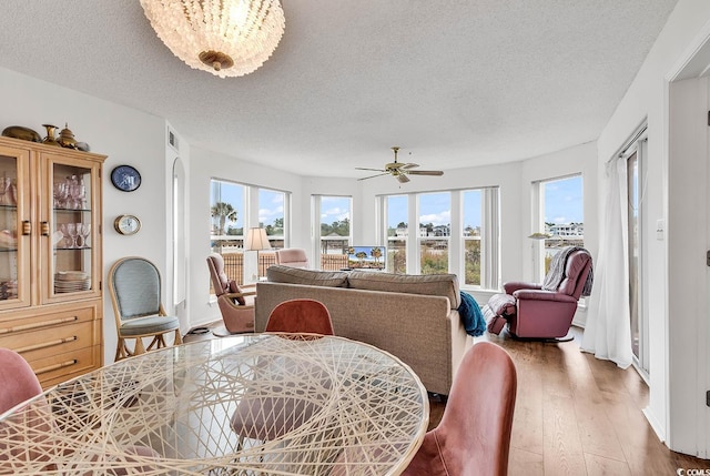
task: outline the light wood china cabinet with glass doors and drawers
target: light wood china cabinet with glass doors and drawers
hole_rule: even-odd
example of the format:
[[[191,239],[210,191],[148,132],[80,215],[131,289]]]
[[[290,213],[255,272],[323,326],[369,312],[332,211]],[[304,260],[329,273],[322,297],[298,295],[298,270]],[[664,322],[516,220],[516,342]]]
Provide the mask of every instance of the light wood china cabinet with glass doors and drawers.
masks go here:
[[[0,347],[44,387],[103,364],[105,159],[0,138]]]

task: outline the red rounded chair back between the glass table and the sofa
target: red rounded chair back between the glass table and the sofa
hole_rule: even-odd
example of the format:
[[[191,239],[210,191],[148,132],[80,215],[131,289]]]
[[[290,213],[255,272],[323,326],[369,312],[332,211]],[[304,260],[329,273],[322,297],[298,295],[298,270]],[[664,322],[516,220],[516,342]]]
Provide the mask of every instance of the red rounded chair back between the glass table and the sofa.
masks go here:
[[[333,321],[325,304],[315,300],[284,301],[273,308],[266,332],[333,335]]]

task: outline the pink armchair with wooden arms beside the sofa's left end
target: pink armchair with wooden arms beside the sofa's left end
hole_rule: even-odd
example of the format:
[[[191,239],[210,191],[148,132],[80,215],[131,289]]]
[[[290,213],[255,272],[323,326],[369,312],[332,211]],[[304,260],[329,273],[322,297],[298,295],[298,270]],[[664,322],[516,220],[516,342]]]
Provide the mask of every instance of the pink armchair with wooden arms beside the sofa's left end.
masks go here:
[[[254,297],[256,292],[240,288],[224,271],[224,259],[219,253],[207,256],[212,287],[217,297],[224,327],[231,334],[254,332]]]

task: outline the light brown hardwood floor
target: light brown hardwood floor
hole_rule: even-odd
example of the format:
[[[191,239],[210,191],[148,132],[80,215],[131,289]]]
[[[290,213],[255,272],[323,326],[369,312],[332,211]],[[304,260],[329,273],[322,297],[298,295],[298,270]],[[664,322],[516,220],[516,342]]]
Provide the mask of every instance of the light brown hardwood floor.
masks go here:
[[[710,470],[710,460],[671,452],[658,439],[641,413],[648,387],[633,368],[622,371],[580,352],[579,332],[575,336],[554,344],[515,341],[505,333],[476,338],[504,347],[517,368],[509,475],[671,476],[679,468]],[[185,342],[211,337],[187,335]],[[437,396],[429,403],[433,428],[445,404]]]

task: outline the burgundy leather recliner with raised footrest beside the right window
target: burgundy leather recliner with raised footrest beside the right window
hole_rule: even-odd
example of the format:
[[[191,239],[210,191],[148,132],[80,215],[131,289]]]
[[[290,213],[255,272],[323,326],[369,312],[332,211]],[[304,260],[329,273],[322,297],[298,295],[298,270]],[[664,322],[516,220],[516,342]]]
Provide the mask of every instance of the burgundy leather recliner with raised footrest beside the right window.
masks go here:
[[[541,284],[505,283],[505,294],[488,300],[484,308],[488,332],[499,334],[507,324],[515,337],[565,337],[577,302],[580,296],[590,295],[591,283],[591,255],[582,247],[567,246],[552,257]]]

